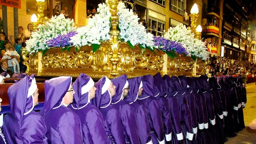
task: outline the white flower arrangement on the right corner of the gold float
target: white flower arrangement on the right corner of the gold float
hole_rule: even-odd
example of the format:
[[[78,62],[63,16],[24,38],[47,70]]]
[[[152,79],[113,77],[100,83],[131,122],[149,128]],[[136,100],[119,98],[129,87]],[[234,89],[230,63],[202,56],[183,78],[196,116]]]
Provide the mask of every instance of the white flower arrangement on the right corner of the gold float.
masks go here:
[[[195,61],[197,57],[206,60],[209,58],[209,52],[205,43],[194,38],[194,33],[191,33],[189,28],[183,24],[178,24],[176,27],[170,27],[168,32],[165,32],[164,38],[171,41],[181,42],[187,51],[187,55]]]

